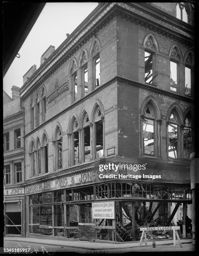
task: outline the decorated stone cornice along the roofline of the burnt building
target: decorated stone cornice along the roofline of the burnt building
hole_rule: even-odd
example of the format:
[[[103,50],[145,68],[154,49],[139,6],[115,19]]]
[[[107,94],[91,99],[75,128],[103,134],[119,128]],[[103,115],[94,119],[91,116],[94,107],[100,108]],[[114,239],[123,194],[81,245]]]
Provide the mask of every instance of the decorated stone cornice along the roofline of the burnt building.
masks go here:
[[[130,20],[137,25],[144,26],[149,30],[161,33],[163,36],[173,38],[176,41],[184,44],[188,44],[190,45],[190,47],[193,46],[193,39],[181,35],[181,33],[178,33],[176,31],[172,31],[169,27],[167,28],[166,26],[153,22],[148,18],[133,13],[133,10],[135,8],[133,8],[132,4],[133,3],[111,3],[110,5],[105,5],[104,10],[101,10],[101,13],[99,15],[95,15],[92,21],[89,20],[89,24],[87,22],[87,24],[84,25],[84,29],[80,30],[79,35],[76,38],[71,38],[70,41],[64,41],[64,43],[61,44],[61,47],[59,47],[55,51],[55,53],[49,58],[48,62],[45,63],[43,67],[40,67],[38,68],[38,70],[36,70],[31,79],[29,79],[20,89],[21,98],[23,100],[26,100],[26,98],[29,97],[29,95],[34,90],[36,90],[36,88],[38,88],[46,79],[48,79],[48,77],[50,77],[57,69],[59,69],[59,67],[61,67],[64,62],[66,62],[76,51],[81,49],[82,46],[90,38],[92,38],[94,34],[99,31],[100,28],[105,26],[111,18],[117,15],[120,15],[122,18]],[[138,8],[138,5],[136,5],[136,8]],[[150,5],[149,8],[151,8]],[[161,13],[161,10],[158,10],[158,12]],[[107,13],[108,15],[105,16],[105,14]],[[164,16],[168,16],[171,20],[173,19],[171,15],[166,15],[165,12],[162,13],[164,14]],[[158,18],[160,18],[160,15],[158,16]],[[162,17],[161,19],[164,19],[164,21],[168,23],[168,20],[166,18]],[[176,25],[171,21],[170,23],[172,24],[172,26]],[[188,33],[192,33],[191,29],[190,31],[188,30]],[[63,44],[66,44],[66,46],[64,46]],[[33,88],[34,86],[35,88]]]

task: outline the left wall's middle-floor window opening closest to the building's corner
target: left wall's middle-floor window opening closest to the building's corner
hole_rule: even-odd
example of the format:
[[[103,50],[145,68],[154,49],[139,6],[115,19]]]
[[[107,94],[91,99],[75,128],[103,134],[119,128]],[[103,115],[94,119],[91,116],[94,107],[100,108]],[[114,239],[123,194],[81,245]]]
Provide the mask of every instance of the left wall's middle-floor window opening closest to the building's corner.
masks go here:
[[[99,110],[100,115],[101,111]],[[102,120],[95,123],[96,128],[96,158],[103,156],[103,123]]]

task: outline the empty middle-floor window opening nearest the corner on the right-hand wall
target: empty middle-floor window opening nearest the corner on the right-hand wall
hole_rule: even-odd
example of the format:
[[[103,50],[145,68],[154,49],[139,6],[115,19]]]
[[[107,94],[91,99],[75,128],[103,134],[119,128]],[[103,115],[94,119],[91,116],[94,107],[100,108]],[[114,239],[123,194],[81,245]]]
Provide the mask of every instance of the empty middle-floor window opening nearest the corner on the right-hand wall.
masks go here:
[[[144,154],[154,155],[154,120],[148,118],[143,120],[143,144]]]

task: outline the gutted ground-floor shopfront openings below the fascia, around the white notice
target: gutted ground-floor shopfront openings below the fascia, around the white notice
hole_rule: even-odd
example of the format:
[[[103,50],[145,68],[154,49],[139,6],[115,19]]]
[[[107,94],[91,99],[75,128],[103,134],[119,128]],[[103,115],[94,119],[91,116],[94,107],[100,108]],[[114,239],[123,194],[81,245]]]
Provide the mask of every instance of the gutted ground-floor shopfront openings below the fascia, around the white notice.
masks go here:
[[[114,219],[94,219],[92,202],[106,200],[114,202]],[[138,241],[142,226],[178,225],[182,214],[191,219],[191,190],[185,185],[109,182],[30,195],[29,208],[30,233],[79,238],[79,223],[93,223],[97,239]],[[163,232],[148,238],[158,236],[169,238]]]

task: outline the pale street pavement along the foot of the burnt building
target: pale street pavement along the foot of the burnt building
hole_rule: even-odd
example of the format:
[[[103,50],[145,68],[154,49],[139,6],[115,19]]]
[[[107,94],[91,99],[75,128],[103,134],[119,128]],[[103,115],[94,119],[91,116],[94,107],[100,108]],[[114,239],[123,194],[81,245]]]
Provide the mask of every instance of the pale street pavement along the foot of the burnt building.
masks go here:
[[[52,240],[52,239],[40,239],[40,238],[21,238],[21,237],[5,237],[4,241],[21,241],[26,243],[36,243],[36,244],[43,244],[43,245],[50,245],[50,246],[60,246],[61,248],[64,247],[70,247],[70,248],[81,248],[86,249],[88,251],[96,251],[96,250],[115,250],[115,249],[127,249],[131,248],[131,251],[133,249],[139,248],[139,241],[133,241],[133,242],[107,242],[102,240],[96,240],[95,242],[90,241],[63,241],[63,240]],[[170,248],[173,248],[173,239],[161,239],[161,240],[153,240],[156,242],[156,246],[158,248],[162,246],[170,245]],[[145,243],[143,242],[140,249],[143,248],[152,248],[152,240],[147,240],[148,246],[145,247]],[[184,245],[184,247],[189,247],[191,251],[194,251],[193,246],[191,246],[192,239],[191,238],[181,238],[181,243]],[[159,247],[160,246],[160,247]],[[176,248],[179,248],[180,251],[183,251],[183,248],[180,247],[179,242],[176,240]],[[157,251],[157,248],[154,248]]]

